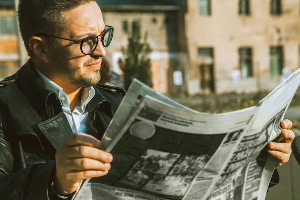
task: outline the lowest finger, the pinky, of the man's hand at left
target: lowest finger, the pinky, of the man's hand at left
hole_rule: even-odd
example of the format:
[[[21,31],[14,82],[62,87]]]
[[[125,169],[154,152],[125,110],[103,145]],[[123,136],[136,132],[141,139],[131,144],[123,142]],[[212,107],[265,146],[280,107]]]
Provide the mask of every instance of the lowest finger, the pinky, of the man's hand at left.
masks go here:
[[[66,174],[66,179],[79,182],[88,178],[96,178],[107,175],[108,171],[99,171],[99,170],[85,170],[85,171],[74,171]]]

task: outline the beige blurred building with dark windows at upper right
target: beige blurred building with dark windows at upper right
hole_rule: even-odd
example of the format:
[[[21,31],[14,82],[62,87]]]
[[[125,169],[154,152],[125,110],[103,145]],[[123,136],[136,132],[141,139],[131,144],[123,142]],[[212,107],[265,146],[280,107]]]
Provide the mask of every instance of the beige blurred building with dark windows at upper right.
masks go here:
[[[299,10],[298,0],[187,0],[188,93],[274,89],[300,65]]]

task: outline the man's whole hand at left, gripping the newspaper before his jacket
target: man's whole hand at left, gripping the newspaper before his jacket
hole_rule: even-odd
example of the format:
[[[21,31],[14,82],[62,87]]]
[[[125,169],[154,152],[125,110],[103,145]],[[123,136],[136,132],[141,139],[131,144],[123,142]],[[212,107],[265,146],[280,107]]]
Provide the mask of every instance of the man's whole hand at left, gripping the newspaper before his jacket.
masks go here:
[[[104,176],[110,169],[112,155],[99,150],[101,142],[95,137],[76,133],[65,140],[56,152],[54,189],[60,195],[76,191],[81,180]]]

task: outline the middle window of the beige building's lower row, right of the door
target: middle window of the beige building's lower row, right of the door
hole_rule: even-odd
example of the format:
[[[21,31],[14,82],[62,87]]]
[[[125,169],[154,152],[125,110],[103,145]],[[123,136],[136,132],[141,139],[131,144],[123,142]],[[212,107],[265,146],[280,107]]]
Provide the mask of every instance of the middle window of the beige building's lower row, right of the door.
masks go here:
[[[242,78],[253,76],[252,48],[239,48],[239,67]]]

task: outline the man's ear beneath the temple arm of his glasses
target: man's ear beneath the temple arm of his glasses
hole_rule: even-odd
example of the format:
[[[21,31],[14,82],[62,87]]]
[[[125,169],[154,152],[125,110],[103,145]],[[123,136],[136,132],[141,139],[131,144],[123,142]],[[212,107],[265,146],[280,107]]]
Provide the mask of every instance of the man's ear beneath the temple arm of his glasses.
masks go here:
[[[38,57],[45,63],[49,63],[48,52],[46,50],[46,41],[38,36],[29,39],[29,48],[34,56]]]

